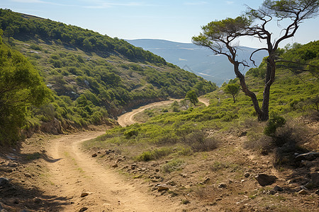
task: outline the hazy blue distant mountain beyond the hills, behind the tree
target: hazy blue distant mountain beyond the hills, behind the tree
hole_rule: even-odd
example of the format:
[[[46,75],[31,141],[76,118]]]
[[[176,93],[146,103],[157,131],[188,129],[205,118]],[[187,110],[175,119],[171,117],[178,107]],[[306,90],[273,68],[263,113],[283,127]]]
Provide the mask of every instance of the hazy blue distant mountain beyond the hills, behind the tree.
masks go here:
[[[136,47],[142,47],[154,54],[163,57],[166,61],[175,64],[186,71],[196,73],[220,86],[223,82],[235,78],[233,66],[223,56],[213,55],[211,50],[198,47],[192,43],[172,42],[168,40],[138,39],[127,40]],[[256,49],[240,47],[238,57],[249,60],[250,54]],[[254,60],[259,65],[267,52],[257,52]],[[252,64],[250,64],[252,66]],[[253,66],[252,66],[253,67]],[[243,72],[246,73],[248,68]]]

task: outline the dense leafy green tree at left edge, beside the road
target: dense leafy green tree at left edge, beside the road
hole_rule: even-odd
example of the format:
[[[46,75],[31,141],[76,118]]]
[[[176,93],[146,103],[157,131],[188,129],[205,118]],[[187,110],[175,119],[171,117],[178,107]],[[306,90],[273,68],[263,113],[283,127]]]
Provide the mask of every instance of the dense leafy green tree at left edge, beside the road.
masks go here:
[[[50,96],[38,71],[1,41],[0,30],[0,146],[18,139],[31,105],[39,106]]]

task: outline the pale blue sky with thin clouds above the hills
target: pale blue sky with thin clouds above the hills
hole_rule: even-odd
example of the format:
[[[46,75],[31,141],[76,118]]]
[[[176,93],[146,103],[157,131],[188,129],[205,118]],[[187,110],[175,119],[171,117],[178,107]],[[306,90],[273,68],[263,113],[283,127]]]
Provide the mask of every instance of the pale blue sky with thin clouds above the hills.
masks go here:
[[[258,8],[262,0],[1,0],[0,7],[77,25],[111,37],[191,42],[191,37],[201,32],[201,25],[212,20],[235,18],[245,11],[245,4]],[[318,40],[318,20],[306,20],[296,36],[283,45]],[[258,40],[252,39],[242,39],[240,45],[262,47]]]

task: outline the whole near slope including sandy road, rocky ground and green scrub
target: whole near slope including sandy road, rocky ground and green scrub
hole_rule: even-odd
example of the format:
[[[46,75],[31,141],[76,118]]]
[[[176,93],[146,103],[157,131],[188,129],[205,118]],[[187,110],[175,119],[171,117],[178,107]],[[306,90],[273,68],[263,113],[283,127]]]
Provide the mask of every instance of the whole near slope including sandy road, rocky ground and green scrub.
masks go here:
[[[96,131],[60,137],[38,134],[21,150],[0,151],[1,176],[10,179],[2,178],[0,207],[317,211],[318,44],[281,51],[282,58],[299,65],[291,66],[292,71],[282,67],[287,64],[277,69],[267,123],[257,121],[243,93],[233,102],[224,84],[204,96],[208,107],[185,100],[163,102],[133,110],[139,124],[108,127],[106,132],[106,126],[96,126]],[[265,67],[262,62],[246,74],[258,98]],[[265,129],[275,129],[274,134]]]

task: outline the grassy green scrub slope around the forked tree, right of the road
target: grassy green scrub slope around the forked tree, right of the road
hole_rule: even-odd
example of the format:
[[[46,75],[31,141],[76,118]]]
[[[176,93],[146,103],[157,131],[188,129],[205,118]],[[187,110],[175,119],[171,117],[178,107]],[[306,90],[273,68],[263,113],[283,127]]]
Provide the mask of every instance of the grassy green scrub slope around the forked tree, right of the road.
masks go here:
[[[293,45],[287,50],[281,49],[281,57],[298,62],[298,66],[294,63],[278,64],[279,67],[285,66],[285,68],[277,70],[276,81],[272,86],[269,107],[271,119],[284,117],[291,123],[294,119],[302,117],[318,121],[318,45],[319,41],[316,41],[307,45]],[[246,75],[247,85],[256,93],[259,100],[262,99],[266,65],[263,61],[258,68],[250,69]],[[287,69],[286,66],[290,68]],[[239,84],[238,79],[231,80],[230,83]],[[116,143],[116,145],[121,144],[125,149],[125,146],[134,144],[139,148],[138,151],[134,151],[134,155],[130,153],[131,157],[135,160],[152,160],[179,153],[179,151],[186,151],[187,154],[193,151],[211,151],[216,148],[218,141],[209,136],[206,133],[208,131],[223,133],[223,131],[245,130],[251,139],[250,145],[247,144],[247,146],[252,146],[259,151],[266,146],[272,146],[272,141],[269,141],[266,146],[264,143],[259,143],[259,139],[264,136],[264,124],[257,122],[257,115],[250,98],[240,92],[234,103],[233,96],[224,92],[225,86],[227,86],[226,83],[213,93],[204,96],[210,99],[211,104],[208,107],[188,108],[184,103],[175,102],[168,109],[170,112],[162,112],[155,117],[153,116],[155,110],[146,110],[145,115],[150,118],[145,124],[118,127],[107,131],[104,136],[95,141],[88,141],[87,145],[111,148]],[[286,140],[283,140],[283,143],[293,141],[289,140],[291,135],[285,136]],[[157,149],[154,149],[154,145]],[[176,146],[175,151],[172,151],[172,148],[167,149],[167,146]],[[164,153],[160,153],[162,151]]]

